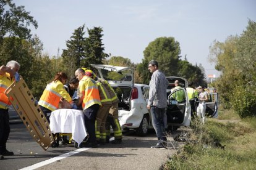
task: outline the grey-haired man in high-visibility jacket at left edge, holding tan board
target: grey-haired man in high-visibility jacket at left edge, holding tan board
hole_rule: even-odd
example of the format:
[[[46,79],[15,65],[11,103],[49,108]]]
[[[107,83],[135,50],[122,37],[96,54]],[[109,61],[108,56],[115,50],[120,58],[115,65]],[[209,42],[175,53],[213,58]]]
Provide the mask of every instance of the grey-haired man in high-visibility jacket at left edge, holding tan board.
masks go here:
[[[8,62],[6,66],[0,67],[0,160],[4,159],[4,155],[14,155],[6,149],[6,142],[10,134],[8,105],[11,105],[9,99],[4,92],[11,86],[14,80],[19,81],[20,64],[14,60]]]

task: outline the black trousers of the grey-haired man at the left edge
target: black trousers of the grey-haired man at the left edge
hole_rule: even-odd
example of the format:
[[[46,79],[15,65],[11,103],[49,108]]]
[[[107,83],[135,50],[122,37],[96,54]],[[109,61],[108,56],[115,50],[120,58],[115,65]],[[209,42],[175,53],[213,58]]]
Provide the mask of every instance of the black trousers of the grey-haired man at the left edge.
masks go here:
[[[10,134],[8,110],[0,108],[0,153],[6,150],[6,142]]]

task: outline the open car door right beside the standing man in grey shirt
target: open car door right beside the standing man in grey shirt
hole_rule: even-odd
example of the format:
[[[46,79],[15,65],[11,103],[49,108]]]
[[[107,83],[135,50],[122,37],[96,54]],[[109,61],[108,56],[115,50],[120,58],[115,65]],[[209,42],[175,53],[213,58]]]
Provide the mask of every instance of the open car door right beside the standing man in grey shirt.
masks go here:
[[[184,94],[184,100],[178,100],[177,95]],[[168,95],[168,106],[166,108],[167,122],[171,126],[189,126],[190,103],[184,88],[176,89]]]

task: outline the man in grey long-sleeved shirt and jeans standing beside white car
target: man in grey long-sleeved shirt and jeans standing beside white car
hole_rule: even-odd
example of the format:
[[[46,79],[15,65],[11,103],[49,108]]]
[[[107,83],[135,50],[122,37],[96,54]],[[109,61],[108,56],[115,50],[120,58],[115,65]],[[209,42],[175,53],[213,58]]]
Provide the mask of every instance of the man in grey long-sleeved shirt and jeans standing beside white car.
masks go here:
[[[167,148],[166,136],[164,136],[164,110],[167,106],[166,89],[168,80],[164,73],[158,70],[158,62],[151,60],[148,70],[153,73],[150,80],[150,91],[147,108],[150,110],[152,124],[156,131],[158,143],[151,148]]]

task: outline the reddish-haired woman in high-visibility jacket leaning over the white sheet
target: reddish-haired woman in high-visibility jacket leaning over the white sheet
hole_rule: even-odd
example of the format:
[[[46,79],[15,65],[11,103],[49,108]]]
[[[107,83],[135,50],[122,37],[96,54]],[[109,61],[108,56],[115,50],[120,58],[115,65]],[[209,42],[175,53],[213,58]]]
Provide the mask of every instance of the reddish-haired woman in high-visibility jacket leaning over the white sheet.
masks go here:
[[[53,81],[47,84],[43,95],[38,102],[41,110],[49,121],[49,116],[51,116],[51,111],[57,110],[59,108],[59,103],[66,100],[66,103],[70,105],[67,108],[75,108],[75,104],[72,101],[69,93],[64,89],[64,84],[67,81],[66,73],[57,73]]]

